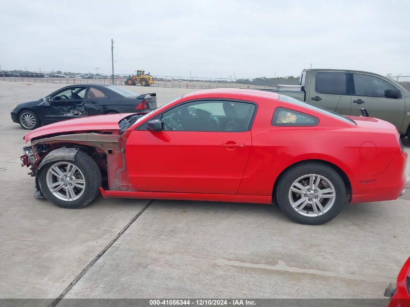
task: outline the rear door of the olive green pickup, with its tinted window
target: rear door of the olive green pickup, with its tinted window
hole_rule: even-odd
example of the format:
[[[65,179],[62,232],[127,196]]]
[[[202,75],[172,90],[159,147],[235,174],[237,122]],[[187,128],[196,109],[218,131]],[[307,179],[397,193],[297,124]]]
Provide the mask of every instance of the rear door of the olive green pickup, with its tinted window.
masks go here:
[[[347,74],[337,71],[313,71],[306,102],[340,114],[350,114]]]

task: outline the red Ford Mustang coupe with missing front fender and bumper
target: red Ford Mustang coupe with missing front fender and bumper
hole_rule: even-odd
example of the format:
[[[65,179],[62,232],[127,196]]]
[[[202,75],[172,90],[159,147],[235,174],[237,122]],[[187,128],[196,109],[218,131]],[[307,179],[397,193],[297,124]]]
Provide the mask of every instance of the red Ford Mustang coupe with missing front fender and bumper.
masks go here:
[[[204,90],[142,114],[66,120],[24,136],[36,195],[63,208],[104,197],[277,203],[323,224],[346,202],[392,200],[407,154],[395,127],[276,93]]]

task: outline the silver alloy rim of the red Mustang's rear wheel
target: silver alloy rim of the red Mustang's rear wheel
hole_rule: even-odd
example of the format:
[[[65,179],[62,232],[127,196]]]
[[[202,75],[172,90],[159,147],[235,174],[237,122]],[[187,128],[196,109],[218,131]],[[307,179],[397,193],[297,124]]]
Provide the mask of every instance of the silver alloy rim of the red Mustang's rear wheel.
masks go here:
[[[336,200],[333,184],[317,174],[297,178],[289,189],[289,202],[299,214],[309,217],[320,216],[332,208]]]

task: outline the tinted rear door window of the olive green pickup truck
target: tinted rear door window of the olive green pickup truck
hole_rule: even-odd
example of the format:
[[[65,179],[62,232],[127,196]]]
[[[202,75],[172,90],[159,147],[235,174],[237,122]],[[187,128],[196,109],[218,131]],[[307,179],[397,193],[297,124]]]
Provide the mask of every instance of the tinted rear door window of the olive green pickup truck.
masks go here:
[[[316,93],[346,95],[346,74],[342,72],[318,72]]]

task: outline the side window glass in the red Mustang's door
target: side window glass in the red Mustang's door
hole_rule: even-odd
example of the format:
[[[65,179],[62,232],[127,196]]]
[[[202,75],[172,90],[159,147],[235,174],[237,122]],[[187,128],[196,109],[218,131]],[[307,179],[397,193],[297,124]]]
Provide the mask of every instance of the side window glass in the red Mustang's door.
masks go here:
[[[256,106],[239,101],[194,101],[161,116],[164,130],[243,132],[250,129]]]

